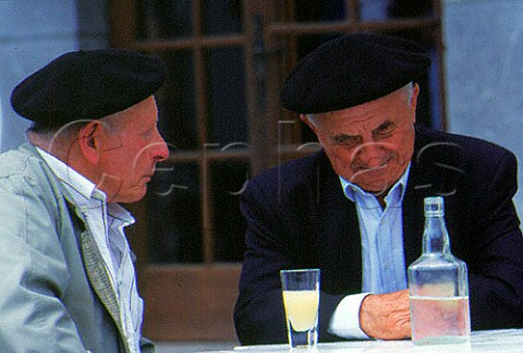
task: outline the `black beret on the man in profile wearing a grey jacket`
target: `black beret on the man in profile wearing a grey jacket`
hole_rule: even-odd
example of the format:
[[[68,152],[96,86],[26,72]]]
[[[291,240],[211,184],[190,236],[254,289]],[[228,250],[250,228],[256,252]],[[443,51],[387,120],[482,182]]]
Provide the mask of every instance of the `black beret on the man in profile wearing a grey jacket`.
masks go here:
[[[49,127],[99,119],[151,96],[166,71],[161,60],[135,51],[72,51],[22,81],[11,105],[22,117]]]

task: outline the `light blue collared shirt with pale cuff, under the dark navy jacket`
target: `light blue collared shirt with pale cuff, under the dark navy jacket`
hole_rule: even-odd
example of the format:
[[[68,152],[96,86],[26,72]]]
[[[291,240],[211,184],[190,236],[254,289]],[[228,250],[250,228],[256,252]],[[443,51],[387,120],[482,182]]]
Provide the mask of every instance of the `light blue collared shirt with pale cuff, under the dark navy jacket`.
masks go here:
[[[329,322],[329,332],[343,338],[368,338],[360,328],[360,306],[368,294],[408,288],[403,254],[402,203],[411,166],[391,187],[381,208],[377,198],[340,176],[343,192],[355,204],[362,241],[362,293],[345,296]]]

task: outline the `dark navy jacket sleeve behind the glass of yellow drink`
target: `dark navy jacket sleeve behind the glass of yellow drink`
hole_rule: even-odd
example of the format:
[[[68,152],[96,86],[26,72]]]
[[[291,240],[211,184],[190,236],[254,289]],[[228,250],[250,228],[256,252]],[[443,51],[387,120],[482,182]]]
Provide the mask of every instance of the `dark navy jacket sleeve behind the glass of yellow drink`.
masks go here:
[[[240,295],[234,311],[236,334],[242,344],[284,343],[287,324],[279,270],[315,266],[307,255],[291,209],[275,197],[273,184],[250,181],[242,194],[241,210],[247,223],[246,252],[240,278]],[[300,247],[300,246],[303,247]],[[319,340],[332,340],[328,322],[342,295],[320,293]]]

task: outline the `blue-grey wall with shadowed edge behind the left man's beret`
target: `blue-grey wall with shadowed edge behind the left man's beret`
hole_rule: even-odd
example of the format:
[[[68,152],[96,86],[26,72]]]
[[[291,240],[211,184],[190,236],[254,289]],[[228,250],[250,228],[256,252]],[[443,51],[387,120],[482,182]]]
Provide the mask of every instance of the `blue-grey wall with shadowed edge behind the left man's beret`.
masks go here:
[[[24,77],[66,51],[107,46],[106,0],[0,0],[0,151],[25,141],[11,108]]]

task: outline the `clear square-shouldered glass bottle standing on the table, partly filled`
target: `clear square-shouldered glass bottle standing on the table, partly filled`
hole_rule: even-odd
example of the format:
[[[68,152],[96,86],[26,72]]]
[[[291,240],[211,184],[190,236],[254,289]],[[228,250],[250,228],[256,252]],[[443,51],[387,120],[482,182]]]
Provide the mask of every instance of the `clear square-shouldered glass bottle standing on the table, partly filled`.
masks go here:
[[[450,252],[442,197],[425,198],[423,253],[409,266],[412,341],[469,342],[471,318],[466,264]]]

